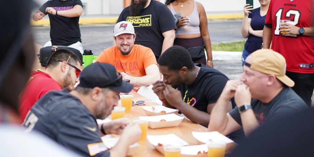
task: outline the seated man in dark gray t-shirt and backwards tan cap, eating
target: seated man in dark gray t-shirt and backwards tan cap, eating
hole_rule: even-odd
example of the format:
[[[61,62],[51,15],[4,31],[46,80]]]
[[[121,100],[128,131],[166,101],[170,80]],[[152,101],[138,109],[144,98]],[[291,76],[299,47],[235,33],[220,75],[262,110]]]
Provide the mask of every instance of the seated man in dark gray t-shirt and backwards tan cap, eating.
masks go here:
[[[243,127],[246,136],[259,125],[283,114],[306,109],[305,102],[290,88],[284,57],[270,49],[250,54],[240,81],[228,81],[212,110],[209,131],[227,135]],[[241,82],[242,81],[242,82]],[[230,98],[237,107],[226,113]]]

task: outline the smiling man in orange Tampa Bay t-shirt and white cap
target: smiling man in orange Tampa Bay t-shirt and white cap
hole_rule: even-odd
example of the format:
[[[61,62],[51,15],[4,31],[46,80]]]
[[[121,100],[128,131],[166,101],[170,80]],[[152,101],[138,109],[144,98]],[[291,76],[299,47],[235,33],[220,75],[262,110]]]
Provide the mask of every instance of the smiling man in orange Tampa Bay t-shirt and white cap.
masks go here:
[[[141,86],[148,86],[160,80],[160,73],[153,51],[145,46],[134,45],[136,34],[130,22],[116,24],[114,41],[116,46],[105,49],[96,62],[112,64],[122,74],[122,79],[129,79],[134,84],[135,92]]]

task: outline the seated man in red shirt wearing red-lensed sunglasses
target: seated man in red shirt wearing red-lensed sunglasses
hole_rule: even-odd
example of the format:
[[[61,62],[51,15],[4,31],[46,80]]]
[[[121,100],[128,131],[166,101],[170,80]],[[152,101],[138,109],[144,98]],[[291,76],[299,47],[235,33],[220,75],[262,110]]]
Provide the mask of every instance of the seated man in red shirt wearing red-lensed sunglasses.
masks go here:
[[[51,90],[62,88],[73,90],[78,82],[81,61],[67,49],[57,50],[47,62],[45,71],[32,71],[19,99],[20,123],[22,123],[35,102]]]

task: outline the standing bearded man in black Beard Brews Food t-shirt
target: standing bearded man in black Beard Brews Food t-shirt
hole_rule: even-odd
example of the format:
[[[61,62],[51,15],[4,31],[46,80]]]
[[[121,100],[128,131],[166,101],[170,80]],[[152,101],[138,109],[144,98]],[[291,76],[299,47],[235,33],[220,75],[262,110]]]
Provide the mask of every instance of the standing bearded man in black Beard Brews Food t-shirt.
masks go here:
[[[173,46],[175,19],[171,11],[158,1],[132,0],[131,5],[121,12],[117,23],[121,21],[133,24],[137,33],[135,44],[151,48],[156,59]]]

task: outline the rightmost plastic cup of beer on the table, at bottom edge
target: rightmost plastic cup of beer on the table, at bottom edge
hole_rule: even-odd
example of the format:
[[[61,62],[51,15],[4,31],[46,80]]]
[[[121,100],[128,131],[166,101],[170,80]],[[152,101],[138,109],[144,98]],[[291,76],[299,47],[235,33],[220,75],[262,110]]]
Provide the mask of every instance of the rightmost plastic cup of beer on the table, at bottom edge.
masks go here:
[[[208,147],[208,157],[224,157],[226,150],[226,143],[221,141],[209,140],[206,142]]]

